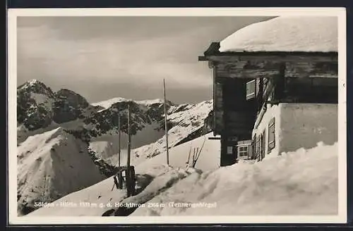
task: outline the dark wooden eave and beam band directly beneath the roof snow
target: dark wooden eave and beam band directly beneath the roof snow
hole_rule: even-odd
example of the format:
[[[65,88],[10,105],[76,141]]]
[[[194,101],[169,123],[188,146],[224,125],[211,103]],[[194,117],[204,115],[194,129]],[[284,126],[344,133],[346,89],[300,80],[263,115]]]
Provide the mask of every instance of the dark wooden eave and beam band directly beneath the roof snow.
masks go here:
[[[337,77],[337,52],[240,51],[220,52],[213,42],[198,61],[217,67],[218,77]]]

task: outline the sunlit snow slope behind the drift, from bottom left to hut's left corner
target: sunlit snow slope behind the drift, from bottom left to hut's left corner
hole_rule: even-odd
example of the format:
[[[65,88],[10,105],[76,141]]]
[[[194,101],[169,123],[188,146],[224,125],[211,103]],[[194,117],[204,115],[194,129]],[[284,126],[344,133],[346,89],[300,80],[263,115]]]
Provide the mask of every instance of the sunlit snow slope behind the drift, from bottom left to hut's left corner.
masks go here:
[[[146,195],[150,196],[151,194],[155,194],[155,190],[157,190],[156,188],[164,187],[165,185],[161,183],[162,180],[167,183],[170,180],[178,180],[179,177],[177,176],[186,177],[186,175],[189,174],[189,171],[183,170],[182,168],[186,166],[185,162],[189,156],[190,146],[201,147],[203,141],[205,141],[205,144],[203,146],[203,151],[201,152],[201,156],[198,159],[196,167],[200,168],[201,170],[215,170],[218,167],[218,163],[220,162],[220,142],[209,140],[208,137],[210,136],[211,134],[208,134],[170,149],[169,158],[170,164],[173,166],[173,168],[164,165],[164,154],[150,158],[136,166],[136,173],[138,174],[137,178],[139,182],[138,187],[146,187],[152,179],[155,179],[154,184],[157,184],[155,186],[150,186],[148,193],[145,193],[145,196],[143,197],[146,198]],[[181,169],[178,169],[179,167]],[[165,173],[169,171],[171,172],[166,175]],[[179,173],[181,175],[179,175]],[[68,194],[67,196],[56,200],[55,202],[60,204],[60,202],[71,201],[78,204],[79,201],[87,201],[90,203],[107,204],[109,201],[116,202],[123,200],[125,197],[124,192],[121,192],[120,190],[116,191],[116,189],[111,191],[112,185],[113,179],[112,177],[109,177],[107,180],[103,180],[96,185],[92,185],[91,187],[82,189],[78,192]],[[40,208],[39,210],[30,213],[30,216],[67,216],[67,214],[71,214],[72,216],[100,216],[102,213],[104,213],[104,211],[107,211],[107,209],[109,208],[87,209],[82,208],[82,206],[72,208],[59,205],[59,208],[56,207],[55,209]]]

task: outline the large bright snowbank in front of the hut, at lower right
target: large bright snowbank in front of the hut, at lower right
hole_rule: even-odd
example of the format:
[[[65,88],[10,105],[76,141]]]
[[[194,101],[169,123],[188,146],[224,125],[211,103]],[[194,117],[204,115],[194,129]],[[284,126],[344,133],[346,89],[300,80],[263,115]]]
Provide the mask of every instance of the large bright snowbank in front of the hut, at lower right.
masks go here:
[[[258,163],[195,172],[149,201],[164,208],[138,208],[131,216],[335,215],[337,176],[337,143],[319,143]]]

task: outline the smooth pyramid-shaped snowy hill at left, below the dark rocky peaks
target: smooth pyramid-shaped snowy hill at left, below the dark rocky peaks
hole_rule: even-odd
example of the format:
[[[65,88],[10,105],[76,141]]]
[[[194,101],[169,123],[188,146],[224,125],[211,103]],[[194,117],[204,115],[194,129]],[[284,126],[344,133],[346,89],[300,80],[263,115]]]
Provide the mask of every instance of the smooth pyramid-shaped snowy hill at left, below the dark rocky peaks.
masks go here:
[[[59,127],[28,137],[18,146],[19,211],[35,201],[54,201],[104,179],[87,153],[87,144]]]

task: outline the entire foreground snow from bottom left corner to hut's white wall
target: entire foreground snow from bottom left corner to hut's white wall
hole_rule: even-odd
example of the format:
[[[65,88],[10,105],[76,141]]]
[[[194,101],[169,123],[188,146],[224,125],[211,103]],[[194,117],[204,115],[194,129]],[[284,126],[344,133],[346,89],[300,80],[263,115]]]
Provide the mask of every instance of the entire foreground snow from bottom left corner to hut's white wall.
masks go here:
[[[337,144],[320,143],[313,149],[266,156],[261,162],[240,162],[203,173],[162,163],[149,169],[139,170],[137,166],[136,173],[138,185],[145,187],[136,196],[125,199],[124,191],[111,192],[112,179],[107,179],[58,200],[145,205],[136,210],[58,206],[40,208],[28,216],[102,216],[110,210],[110,216],[337,214]],[[146,204],[150,203],[163,206],[148,208]]]

